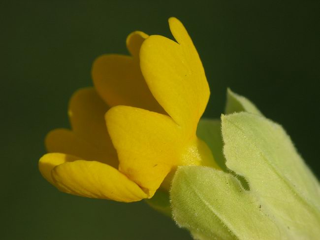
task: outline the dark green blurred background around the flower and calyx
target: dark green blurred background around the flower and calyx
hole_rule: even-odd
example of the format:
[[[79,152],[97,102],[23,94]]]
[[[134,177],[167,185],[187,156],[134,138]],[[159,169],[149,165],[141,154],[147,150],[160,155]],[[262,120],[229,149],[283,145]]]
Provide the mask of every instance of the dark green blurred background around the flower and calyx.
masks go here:
[[[170,16],[185,24],[206,70],[205,116],[220,116],[226,87],[247,96],[319,177],[319,13],[319,1],[306,0],[1,1],[1,239],[190,239],[144,202],[66,195],[37,169],[46,133],[69,126],[69,97],[92,85],[94,59],[127,54],[134,30],[171,37]]]

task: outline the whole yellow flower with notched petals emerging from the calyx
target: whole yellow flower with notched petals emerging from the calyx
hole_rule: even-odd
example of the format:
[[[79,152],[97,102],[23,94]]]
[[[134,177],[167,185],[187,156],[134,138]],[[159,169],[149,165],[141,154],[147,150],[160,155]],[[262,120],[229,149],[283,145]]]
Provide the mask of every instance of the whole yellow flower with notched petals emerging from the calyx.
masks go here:
[[[177,166],[216,167],[195,134],[210,95],[204,69],[181,22],[170,18],[169,26],[177,42],[134,32],[127,38],[132,56],[96,59],[95,89],[72,96],[72,130],[50,132],[49,153],[39,161],[59,190],[134,202],[168,189]]]

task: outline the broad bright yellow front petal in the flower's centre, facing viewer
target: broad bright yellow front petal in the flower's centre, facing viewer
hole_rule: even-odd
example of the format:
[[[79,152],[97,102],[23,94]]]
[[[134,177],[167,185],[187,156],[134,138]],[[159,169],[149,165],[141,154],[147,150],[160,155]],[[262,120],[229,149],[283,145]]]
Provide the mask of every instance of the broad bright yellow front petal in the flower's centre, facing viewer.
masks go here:
[[[181,129],[166,115],[129,106],[115,106],[106,113],[119,171],[153,196],[164,177],[180,160]]]

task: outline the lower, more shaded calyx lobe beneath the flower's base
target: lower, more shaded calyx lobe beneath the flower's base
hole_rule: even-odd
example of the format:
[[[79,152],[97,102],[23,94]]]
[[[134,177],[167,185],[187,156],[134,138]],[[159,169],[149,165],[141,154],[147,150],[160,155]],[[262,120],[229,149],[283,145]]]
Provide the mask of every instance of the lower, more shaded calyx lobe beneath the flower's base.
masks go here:
[[[271,240],[285,236],[256,196],[223,171],[179,167],[171,198],[175,220],[190,229],[195,239]]]

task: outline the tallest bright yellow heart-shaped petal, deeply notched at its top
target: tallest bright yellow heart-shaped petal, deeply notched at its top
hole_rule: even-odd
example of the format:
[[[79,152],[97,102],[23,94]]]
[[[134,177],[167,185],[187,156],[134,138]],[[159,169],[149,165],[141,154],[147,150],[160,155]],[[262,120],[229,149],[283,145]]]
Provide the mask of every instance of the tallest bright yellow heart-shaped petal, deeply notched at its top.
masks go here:
[[[186,29],[169,19],[177,42],[152,35],[140,49],[140,67],[154,97],[182,127],[195,134],[210,91],[198,53]]]

